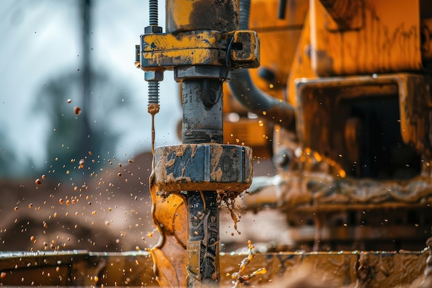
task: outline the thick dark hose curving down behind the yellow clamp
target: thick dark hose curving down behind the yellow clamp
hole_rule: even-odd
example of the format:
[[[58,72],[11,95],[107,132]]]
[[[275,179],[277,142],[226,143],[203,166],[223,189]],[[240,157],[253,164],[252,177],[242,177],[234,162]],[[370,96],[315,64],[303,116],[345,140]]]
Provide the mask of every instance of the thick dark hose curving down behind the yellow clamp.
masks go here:
[[[240,0],[240,30],[248,30],[251,0]],[[295,120],[294,108],[286,102],[271,97],[255,86],[248,69],[231,71],[228,83],[231,94],[251,112],[269,119],[275,124],[293,129]]]

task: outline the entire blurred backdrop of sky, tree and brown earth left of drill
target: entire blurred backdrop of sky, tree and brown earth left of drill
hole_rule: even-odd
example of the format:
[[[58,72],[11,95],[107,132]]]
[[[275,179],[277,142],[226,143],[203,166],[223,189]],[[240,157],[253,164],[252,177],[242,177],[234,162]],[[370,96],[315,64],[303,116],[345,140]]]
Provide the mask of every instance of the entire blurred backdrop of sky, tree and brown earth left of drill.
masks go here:
[[[0,250],[150,245],[151,117],[134,65],[148,1],[5,0],[0,22]],[[165,78],[157,146],[179,142]]]

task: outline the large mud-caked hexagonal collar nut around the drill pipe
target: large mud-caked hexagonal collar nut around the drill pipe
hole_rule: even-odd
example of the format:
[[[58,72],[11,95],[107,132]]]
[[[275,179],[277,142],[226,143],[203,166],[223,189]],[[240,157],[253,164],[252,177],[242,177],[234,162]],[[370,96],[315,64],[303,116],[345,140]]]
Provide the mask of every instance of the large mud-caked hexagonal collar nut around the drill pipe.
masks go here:
[[[223,144],[181,144],[155,148],[155,185],[167,193],[230,191],[252,183],[252,149]]]

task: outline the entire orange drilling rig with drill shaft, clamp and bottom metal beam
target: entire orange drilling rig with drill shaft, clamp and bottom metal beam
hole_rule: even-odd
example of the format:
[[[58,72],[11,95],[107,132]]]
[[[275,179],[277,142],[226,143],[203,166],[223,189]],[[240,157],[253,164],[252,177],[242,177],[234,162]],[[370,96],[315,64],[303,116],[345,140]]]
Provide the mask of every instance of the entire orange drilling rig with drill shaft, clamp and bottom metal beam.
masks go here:
[[[148,111],[159,111],[159,81],[174,70],[184,113],[182,144],[154,151],[159,244],[150,254],[12,255],[0,282],[41,263],[66,269],[60,261],[63,282],[36,284],[264,286],[308,265],[335,287],[431,287],[429,1],[167,0],[166,32],[149,3],[136,49]],[[251,186],[252,155],[276,173]],[[240,206],[282,211],[293,235],[290,251],[255,256],[266,274],[243,270],[252,256],[219,254],[219,207],[246,189]]]

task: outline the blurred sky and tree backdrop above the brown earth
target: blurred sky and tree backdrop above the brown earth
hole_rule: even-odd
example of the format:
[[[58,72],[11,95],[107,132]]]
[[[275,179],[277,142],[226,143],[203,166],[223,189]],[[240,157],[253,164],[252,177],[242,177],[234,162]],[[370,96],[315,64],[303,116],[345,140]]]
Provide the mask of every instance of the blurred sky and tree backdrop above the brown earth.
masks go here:
[[[56,157],[89,150],[104,158],[148,151],[147,84],[134,66],[148,1],[5,0],[0,16],[2,177],[35,177]],[[157,144],[177,141],[176,89],[167,73]]]

